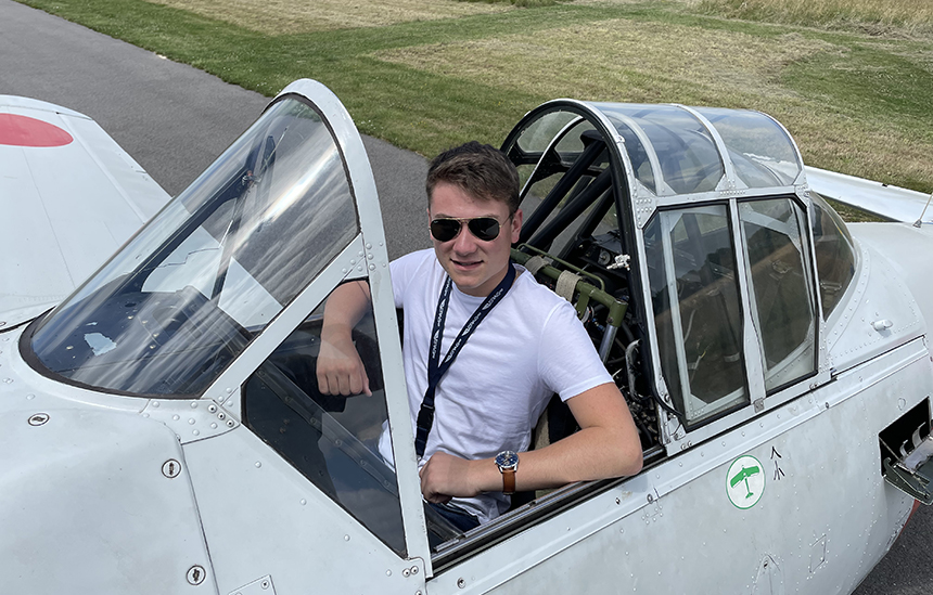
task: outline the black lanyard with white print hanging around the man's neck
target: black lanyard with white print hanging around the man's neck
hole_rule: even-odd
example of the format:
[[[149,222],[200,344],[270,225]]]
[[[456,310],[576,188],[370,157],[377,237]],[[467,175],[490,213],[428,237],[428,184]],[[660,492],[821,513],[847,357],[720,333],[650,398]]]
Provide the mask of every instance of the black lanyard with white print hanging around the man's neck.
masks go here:
[[[473,334],[473,331],[476,329],[476,326],[506,297],[506,293],[509,292],[513,281],[515,281],[515,268],[512,266],[512,261],[509,260],[509,269],[506,271],[506,276],[496,285],[493,293],[486,296],[480,308],[476,308],[476,311],[473,312],[473,315],[470,316],[470,320],[460,329],[460,334],[453,339],[453,344],[450,346],[450,350],[447,351],[447,355],[444,357],[444,361],[440,362],[440,340],[444,338],[444,321],[447,319],[447,306],[450,303],[450,290],[453,287],[453,282],[449,275],[444,282],[444,287],[440,289],[440,299],[437,302],[437,312],[434,314],[434,328],[431,332],[431,349],[427,358],[427,390],[424,391],[424,400],[421,402],[421,411],[418,412],[418,422],[416,424],[418,434],[414,437],[414,452],[419,458],[424,455],[424,448],[427,445],[427,435],[431,432],[431,426],[434,425],[434,393],[437,390],[437,383],[440,381],[440,378],[450,367],[450,364],[453,363],[453,360],[460,353],[460,350],[463,349],[463,345],[470,338],[470,335]]]

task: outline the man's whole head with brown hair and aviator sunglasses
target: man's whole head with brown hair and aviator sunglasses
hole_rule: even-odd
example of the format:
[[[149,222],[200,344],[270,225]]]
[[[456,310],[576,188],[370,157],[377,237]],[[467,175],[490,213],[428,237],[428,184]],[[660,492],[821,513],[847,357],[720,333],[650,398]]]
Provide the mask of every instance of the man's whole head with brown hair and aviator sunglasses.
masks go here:
[[[488,295],[506,276],[522,230],[515,167],[472,141],[438,155],[425,187],[437,260],[461,292]]]

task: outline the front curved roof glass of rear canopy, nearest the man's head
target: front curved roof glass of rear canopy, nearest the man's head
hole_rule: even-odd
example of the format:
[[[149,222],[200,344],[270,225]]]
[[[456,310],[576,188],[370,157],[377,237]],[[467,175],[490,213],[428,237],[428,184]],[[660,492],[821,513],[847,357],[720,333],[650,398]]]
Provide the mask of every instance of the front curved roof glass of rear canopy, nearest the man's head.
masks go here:
[[[626,151],[639,181],[649,189],[655,180],[663,180],[676,194],[716,190],[726,170],[716,143],[703,124],[689,112],[674,105],[637,105],[596,103],[625,138]],[[630,118],[647,135],[650,147],[644,147],[624,118]],[[657,155],[661,174],[644,167],[647,151]],[[657,194],[663,194],[659,189]]]

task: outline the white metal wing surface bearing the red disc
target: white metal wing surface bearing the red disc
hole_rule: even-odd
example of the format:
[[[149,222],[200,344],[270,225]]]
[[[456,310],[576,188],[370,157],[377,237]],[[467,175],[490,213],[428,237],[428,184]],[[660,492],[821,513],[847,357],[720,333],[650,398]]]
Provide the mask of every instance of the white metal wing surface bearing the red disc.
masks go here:
[[[0,95],[4,116],[39,120],[72,141],[0,142],[0,328],[55,306],[169,199],[87,116]]]

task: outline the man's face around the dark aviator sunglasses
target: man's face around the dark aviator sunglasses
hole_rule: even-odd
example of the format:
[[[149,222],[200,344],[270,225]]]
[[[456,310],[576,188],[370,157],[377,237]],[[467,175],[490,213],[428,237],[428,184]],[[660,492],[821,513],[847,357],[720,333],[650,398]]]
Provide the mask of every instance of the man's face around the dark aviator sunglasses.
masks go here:
[[[434,186],[429,202],[429,221],[433,219],[473,219],[491,217],[499,222],[499,235],[485,242],[463,221],[460,233],[449,242],[434,242],[434,254],[453,283],[464,294],[485,297],[506,276],[512,243],[522,230],[522,210],[509,218],[509,207],[500,201],[477,201],[465,191],[440,182]]]

